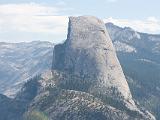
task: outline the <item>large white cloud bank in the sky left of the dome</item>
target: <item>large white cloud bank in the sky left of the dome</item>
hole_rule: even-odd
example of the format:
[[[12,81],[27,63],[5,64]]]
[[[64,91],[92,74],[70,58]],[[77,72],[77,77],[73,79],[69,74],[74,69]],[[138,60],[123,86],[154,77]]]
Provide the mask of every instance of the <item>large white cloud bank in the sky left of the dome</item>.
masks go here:
[[[53,34],[59,37],[52,39],[65,39],[68,17],[59,15],[64,9],[66,10],[66,8],[36,3],[2,4],[0,5],[0,34],[30,32],[39,35]]]

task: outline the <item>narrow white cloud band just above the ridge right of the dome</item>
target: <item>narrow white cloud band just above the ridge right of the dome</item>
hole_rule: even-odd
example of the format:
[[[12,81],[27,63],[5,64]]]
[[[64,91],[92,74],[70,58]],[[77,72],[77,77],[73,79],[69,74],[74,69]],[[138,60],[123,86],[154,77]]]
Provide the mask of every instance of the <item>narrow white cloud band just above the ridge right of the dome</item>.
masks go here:
[[[160,33],[160,20],[156,17],[148,17],[146,20],[114,19],[110,17],[104,19],[104,22],[112,22],[121,27],[131,27],[140,32]]]

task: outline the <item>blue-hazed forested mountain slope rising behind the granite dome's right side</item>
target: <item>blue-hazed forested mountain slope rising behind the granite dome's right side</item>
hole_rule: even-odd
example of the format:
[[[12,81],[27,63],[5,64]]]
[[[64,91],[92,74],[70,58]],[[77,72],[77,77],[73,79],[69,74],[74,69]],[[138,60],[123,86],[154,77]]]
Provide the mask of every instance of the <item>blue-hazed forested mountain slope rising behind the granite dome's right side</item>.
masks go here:
[[[160,35],[140,33],[112,23],[106,27],[133,97],[160,119]]]

